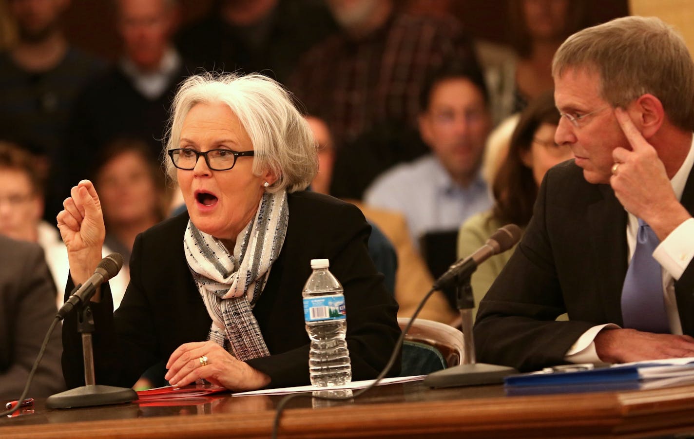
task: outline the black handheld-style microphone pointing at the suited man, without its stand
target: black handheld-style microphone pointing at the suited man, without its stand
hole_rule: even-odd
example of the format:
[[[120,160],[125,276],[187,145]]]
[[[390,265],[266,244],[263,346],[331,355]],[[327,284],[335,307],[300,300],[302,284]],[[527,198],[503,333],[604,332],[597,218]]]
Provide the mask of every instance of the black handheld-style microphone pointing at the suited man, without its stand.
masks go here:
[[[515,224],[507,224],[489,236],[484,246],[480,247],[472,255],[459,259],[450,266],[446,273],[443,273],[436,282],[434,289],[443,290],[455,283],[456,279],[462,275],[471,275],[477,270],[477,266],[482,264],[493,255],[505,252],[513,247],[521,239],[521,227]]]

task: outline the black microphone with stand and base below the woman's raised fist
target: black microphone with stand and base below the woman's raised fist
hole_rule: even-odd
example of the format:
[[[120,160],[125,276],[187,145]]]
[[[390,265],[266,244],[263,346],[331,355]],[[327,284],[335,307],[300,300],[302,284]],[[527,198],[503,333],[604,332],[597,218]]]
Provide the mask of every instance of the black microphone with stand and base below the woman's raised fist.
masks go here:
[[[103,282],[118,274],[123,266],[123,257],[119,253],[111,253],[101,259],[94,274],[82,285],[78,285],[67,302],[58,311],[62,319],[73,309],[80,311],[77,330],[82,334],[82,354],[85,368],[85,386],[65,390],[46,398],[49,408],[71,408],[86,406],[103,406],[120,404],[137,399],[137,393],[131,388],[96,385],[94,378],[94,352],[92,350],[92,332],[94,332],[94,317],[90,308],[90,299]]]

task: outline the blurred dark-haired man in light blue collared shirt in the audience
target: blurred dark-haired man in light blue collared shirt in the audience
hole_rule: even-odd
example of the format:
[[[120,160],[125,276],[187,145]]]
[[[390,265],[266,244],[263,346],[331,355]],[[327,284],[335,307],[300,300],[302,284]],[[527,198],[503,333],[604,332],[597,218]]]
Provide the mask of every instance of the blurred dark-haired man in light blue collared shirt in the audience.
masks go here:
[[[459,64],[443,67],[421,94],[419,130],[432,153],[381,175],[364,201],[405,214],[415,243],[427,232],[457,230],[492,204],[480,176],[490,127],[482,75]]]

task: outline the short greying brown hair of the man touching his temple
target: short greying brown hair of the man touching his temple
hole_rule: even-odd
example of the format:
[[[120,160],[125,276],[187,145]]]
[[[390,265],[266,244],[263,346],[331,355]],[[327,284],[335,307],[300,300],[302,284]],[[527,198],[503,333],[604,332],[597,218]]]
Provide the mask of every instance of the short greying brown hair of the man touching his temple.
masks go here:
[[[589,69],[600,75],[600,95],[625,107],[656,96],[675,126],[694,129],[694,63],[682,36],[656,17],[622,17],[586,28],[555,53],[552,75]]]

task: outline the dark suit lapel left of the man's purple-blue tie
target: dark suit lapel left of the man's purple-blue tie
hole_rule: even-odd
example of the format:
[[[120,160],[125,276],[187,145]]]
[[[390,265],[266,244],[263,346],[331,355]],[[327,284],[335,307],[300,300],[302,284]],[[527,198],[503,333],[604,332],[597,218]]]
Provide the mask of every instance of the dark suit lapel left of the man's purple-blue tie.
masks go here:
[[[627,274],[627,212],[609,184],[598,186],[600,197],[588,207],[593,259],[607,322],[622,325],[622,286]]]

